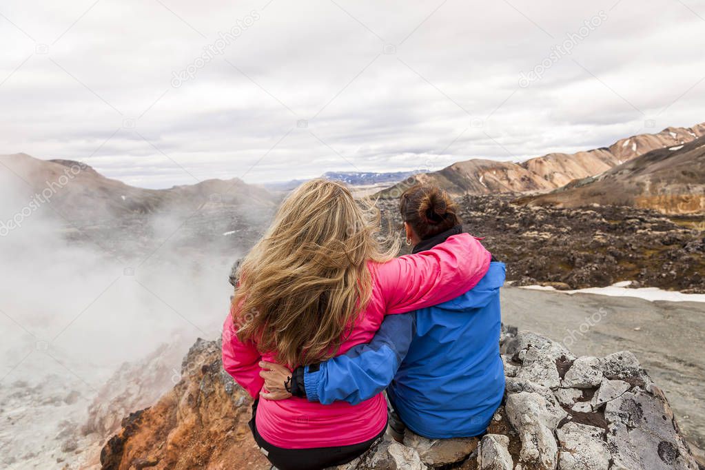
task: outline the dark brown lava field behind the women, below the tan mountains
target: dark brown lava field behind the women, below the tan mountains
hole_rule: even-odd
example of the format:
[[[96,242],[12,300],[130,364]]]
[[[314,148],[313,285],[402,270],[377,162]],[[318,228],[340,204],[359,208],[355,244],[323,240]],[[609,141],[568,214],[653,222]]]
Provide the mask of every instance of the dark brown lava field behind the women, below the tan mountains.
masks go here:
[[[705,214],[666,217],[618,206],[554,209],[513,204],[511,194],[457,199],[470,232],[507,264],[516,285],[632,287],[705,292]],[[380,200],[393,227],[396,199]]]

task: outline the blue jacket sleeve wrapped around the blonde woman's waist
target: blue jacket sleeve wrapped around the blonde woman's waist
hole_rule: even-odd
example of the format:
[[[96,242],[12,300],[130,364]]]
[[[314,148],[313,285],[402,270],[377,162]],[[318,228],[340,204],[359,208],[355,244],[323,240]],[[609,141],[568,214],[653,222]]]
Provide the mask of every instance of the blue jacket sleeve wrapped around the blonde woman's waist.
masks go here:
[[[415,315],[387,316],[369,344],[304,368],[309,402],[358,404],[387,388],[406,356],[414,335]]]

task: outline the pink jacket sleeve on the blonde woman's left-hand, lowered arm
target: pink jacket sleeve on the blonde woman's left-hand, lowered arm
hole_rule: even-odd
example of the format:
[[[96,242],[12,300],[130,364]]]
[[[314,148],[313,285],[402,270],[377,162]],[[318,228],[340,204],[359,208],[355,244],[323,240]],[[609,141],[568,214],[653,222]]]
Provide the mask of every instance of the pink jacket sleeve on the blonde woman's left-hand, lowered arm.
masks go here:
[[[252,398],[257,399],[264,379],[259,376],[261,354],[252,342],[241,342],[233,324],[233,308],[223,323],[223,369],[239,383]]]

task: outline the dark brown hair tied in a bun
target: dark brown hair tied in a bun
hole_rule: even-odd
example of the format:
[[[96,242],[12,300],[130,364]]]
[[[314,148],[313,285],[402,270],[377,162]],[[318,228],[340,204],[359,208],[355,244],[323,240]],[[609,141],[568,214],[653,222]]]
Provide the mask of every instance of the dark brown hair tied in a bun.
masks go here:
[[[421,240],[460,224],[458,206],[437,186],[415,185],[401,195],[399,211]]]

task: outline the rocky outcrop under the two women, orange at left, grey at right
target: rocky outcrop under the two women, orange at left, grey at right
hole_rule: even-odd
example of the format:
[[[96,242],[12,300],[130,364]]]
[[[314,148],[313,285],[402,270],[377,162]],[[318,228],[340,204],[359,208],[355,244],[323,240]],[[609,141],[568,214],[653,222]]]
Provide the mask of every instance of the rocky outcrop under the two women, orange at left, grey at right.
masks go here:
[[[507,389],[488,434],[386,439],[341,470],[697,469],[666,395],[636,357],[575,357],[534,333],[501,339]],[[247,429],[247,393],[223,372],[217,341],[199,340],[157,404],[125,417],[104,469],[268,469]]]

